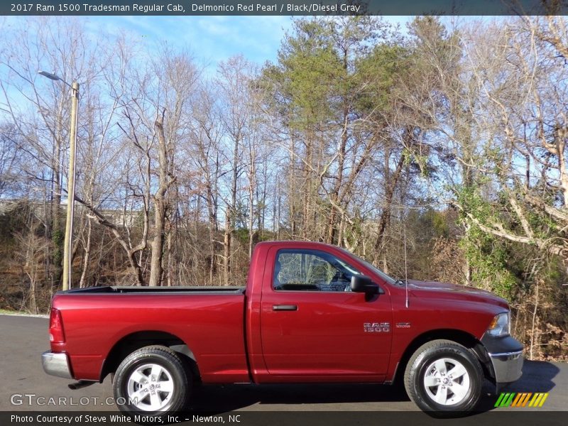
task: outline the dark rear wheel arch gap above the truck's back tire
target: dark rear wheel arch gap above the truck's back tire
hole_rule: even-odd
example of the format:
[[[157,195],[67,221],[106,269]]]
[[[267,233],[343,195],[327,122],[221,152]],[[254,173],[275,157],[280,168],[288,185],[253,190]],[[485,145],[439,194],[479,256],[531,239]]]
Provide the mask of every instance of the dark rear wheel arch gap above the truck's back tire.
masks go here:
[[[189,366],[195,381],[200,381],[201,375],[197,367],[197,359],[190,349],[190,346],[182,339],[175,336],[175,334],[159,330],[138,331],[121,337],[121,339],[112,346],[112,349],[103,361],[100,381],[102,382],[105,377],[114,373],[119,364],[133,351],[141,349],[144,346],[152,345],[166,346],[180,354],[182,359],[187,363],[187,366]]]

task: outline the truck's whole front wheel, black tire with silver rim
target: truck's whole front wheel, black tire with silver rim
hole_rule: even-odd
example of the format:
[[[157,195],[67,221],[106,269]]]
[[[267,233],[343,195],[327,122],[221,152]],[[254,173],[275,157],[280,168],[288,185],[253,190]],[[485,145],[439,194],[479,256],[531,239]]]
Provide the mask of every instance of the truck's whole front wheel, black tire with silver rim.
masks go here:
[[[453,373],[452,373],[453,371]],[[439,417],[469,413],[481,397],[484,373],[474,354],[450,340],[432,340],[406,365],[406,393],[423,411]]]

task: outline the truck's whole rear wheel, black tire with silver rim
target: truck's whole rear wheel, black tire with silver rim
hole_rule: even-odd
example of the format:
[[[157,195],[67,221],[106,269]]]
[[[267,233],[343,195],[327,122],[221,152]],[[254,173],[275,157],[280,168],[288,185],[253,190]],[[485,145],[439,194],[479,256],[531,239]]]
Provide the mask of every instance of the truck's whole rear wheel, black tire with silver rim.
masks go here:
[[[189,368],[175,351],[145,346],[116,369],[114,401],[121,411],[162,415],[185,407],[191,383]]]

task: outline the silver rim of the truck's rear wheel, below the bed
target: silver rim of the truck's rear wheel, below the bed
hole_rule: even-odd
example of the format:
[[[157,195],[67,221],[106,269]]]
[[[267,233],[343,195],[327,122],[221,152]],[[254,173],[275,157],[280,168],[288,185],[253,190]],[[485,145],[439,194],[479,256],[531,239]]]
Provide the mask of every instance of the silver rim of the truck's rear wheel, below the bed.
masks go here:
[[[143,411],[163,411],[171,404],[174,384],[170,372],[159,364],[144,364],[132,371],[128,403]]]

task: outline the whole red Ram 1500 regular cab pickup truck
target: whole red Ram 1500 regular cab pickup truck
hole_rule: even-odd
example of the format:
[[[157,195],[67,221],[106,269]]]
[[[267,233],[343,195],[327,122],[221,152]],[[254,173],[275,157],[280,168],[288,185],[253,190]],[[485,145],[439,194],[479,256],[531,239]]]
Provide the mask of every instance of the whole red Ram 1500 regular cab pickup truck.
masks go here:
[[[113,375],[124,411],[182,410],[195,383],[404,382],[422,410],[474,409],[521,375],[505,300],[394,280],[336,246],[257,244],[244,288],[100,287],[53,297],[43,368]]]

